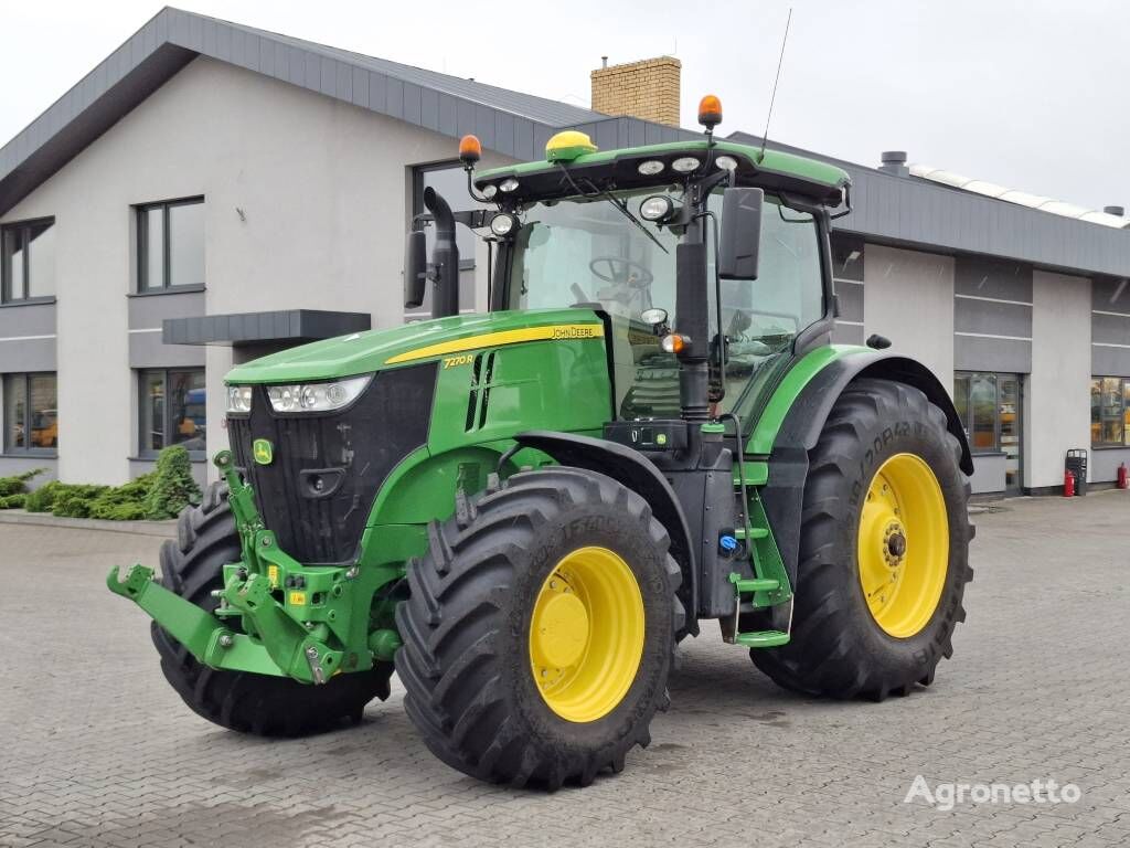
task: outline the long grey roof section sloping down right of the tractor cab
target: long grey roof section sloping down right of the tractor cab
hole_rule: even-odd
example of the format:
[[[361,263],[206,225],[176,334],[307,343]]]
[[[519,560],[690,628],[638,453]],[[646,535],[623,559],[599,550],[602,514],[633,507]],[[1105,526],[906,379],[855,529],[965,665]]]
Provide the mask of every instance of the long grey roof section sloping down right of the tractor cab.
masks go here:
[[[745,132],[729,138],[760,144],[759,138]],[[1128,231],[771,144],[774,149],[838,165],[851,175],[854,211],[836,220],[836,230],[936,251],[1008,257],[1066,272],[1130,276]]]

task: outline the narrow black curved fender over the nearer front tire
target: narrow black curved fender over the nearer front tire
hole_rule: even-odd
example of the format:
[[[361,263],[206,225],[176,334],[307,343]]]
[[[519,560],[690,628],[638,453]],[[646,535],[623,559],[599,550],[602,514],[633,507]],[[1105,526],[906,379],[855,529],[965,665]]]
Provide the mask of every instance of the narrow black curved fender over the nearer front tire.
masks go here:
[[[523,448],[548,453],[560,465],[607,475],[647,502],[652,514],[671,537],[671,556],[683,572],[679,598],[687,613],[687,631],[697,634],[695,611],[698,608],[698,582],[695,578],[695,548],[690,544],[690,528],[683,508],[662,473],[638,451],[603,439],[537,430],[520,433],[514,436],[514,441]]]

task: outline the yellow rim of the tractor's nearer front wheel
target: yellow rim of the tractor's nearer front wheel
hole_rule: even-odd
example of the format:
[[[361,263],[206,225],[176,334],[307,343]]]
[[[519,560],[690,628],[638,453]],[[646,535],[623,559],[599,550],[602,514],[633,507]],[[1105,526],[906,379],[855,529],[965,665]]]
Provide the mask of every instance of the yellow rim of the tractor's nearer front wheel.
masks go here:
[[[541,585],[530,666],[542,699],[567,721],[596,721],[624,700],[643,657],[640,585],[606,547],[581,547]]]

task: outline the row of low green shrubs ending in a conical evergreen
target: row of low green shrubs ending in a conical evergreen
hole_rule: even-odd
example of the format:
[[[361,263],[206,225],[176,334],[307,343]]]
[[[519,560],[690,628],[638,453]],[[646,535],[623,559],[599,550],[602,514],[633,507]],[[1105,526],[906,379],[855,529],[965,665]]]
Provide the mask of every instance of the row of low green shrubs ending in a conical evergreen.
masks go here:
[[[20,505],[28,512],[64,518],[137,521],[176,518],[182,509],[199,502],[200,487],[192,479],[189,452],[174,445],[157,457],[156,470],[123,486],[52,481],[27,494]]]

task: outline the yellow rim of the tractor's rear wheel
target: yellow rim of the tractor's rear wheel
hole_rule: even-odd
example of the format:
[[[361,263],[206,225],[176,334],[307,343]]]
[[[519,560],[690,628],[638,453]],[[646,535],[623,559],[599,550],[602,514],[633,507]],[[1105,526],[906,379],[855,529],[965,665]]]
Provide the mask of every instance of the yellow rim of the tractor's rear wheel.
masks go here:
[[[859,582],[867,607],[896,639],[920,633],[946,586],[949,518],[938,478],[913,453],[885,461],[859,520]]]

